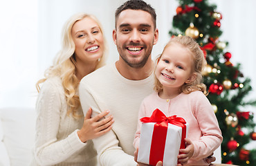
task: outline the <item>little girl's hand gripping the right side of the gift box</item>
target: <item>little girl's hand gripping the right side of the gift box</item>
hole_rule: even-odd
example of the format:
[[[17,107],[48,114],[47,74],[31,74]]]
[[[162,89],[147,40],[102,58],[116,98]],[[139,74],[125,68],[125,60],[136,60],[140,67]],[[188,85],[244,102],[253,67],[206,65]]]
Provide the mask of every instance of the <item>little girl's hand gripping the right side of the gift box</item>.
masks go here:
[[[186,148],[180,149],[180,153],[178,155],[178,166],[184,165],[188,163],[188,160],[193,156],[194,154],[194,145],[192,141],[188,138],[185,138],[186,142]]]

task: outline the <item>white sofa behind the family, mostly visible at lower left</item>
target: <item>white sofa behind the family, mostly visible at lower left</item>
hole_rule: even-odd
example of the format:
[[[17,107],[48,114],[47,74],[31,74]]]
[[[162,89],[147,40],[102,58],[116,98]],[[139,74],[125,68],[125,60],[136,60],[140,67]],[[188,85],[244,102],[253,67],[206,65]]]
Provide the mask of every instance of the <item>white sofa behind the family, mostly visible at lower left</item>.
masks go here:
[[[0,166],[27,166],[33,159],[35,142],[34,108],[10,107],[0,109]],[[221,163],[221,149],[214,151]]]

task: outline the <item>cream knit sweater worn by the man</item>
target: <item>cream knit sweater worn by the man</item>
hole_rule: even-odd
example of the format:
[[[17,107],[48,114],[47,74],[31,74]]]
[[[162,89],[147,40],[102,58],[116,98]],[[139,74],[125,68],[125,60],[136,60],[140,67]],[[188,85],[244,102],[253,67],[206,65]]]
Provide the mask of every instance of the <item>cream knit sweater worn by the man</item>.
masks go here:
[[[127,80],[115,64],[108,64],[86,75],[80,82],[80,101],[84,113],[91,107],[93,115],[109,110],[115,122],[113,128],[93,140],[100,165],[136,165],[134,134],[138,110],[143,98],[153,92],[154,77]]]

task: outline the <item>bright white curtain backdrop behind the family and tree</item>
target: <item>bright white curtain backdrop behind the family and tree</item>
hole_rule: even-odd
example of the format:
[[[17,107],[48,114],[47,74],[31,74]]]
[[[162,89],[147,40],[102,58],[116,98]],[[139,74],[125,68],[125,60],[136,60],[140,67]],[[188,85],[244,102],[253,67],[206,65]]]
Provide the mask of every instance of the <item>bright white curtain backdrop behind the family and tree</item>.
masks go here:
[[[170,39],[172,17],[176,15],[176,0],[146,0],[155,9],[159,41],[152,55],[161,53]],[[98,17],[109,46],[108,63],[118,59],[112,40],[114,12],[125,0],[1,0],[0,5],[0,107],[35,107],[35,82],[52,64],[60,49],[60,33],[64,21],[75,12],[88,12]],[[241,63],[241,71],[252,80],[256,98],[255,37],[256,1],[210,0],[221,12],[220,39],[229,42],[226,51],[232,53],[232,63]],[[252,108],[250,111],[255,111]]]

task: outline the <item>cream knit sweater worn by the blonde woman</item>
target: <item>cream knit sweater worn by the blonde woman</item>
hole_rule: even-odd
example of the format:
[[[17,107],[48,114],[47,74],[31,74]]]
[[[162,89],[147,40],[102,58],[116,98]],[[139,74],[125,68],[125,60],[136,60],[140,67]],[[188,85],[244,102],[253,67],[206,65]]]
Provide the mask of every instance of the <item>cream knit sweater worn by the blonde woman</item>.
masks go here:
[[[96,165],[93,142],[81,142],[77,136],[84,116],[67,116],[67,103],[60,77],[44,82],[37,98],[35,160],[37,165]],[[35,165],[35,160],[34,164]]]

